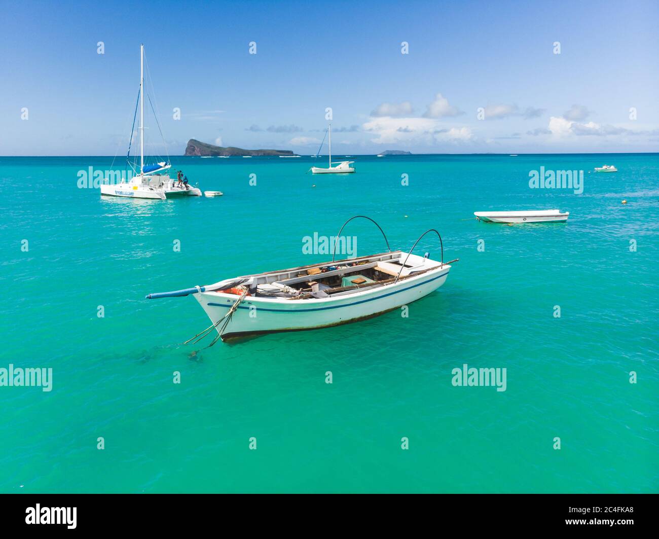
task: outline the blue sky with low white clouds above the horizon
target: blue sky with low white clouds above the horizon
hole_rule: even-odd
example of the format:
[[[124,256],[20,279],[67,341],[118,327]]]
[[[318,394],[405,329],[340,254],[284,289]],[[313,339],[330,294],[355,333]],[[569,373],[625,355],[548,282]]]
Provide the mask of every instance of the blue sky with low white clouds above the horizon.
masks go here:
[[[659,148],[656,1],[0,9],[0,155],[125,154],[140,42],[172,155],[188,138],[314,154],[326,107],[335,154]],[[148,127],[148,148],[162,152]]]

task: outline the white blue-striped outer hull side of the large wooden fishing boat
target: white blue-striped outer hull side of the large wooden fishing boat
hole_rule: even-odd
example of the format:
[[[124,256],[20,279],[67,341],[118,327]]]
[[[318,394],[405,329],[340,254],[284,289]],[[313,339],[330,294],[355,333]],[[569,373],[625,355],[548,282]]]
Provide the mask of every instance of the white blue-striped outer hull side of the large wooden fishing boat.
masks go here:
[[[446,281],[451,266],[428,271],[417,277],[365,289],[342,297],[307,300],[272,300],[246,297],[239,304],[229,324],[221,333],[222,340],[258,333],[318,329],[357,322],[416,301],[436,291]],[[194,297],[208,317],[217,324],[238,300],[225,293],[198,293]],[[219,333],[223,322],[217,324]]]

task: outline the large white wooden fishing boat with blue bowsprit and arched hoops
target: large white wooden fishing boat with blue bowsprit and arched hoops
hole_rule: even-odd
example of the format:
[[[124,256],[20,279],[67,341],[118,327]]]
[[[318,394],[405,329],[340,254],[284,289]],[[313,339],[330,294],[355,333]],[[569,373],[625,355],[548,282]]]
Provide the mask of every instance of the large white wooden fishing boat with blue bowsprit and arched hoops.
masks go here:
[[[343,227],[352,219],[355,217],[348,219]],[[370,217],[366,219],[372,221]],[[341,237],[341,231],[336,237]],[[214,329],[217,335],[213,343],[220,337],[226,340],[356,322],[409,304],[444,284],[451,264],[457,259],[444,262],[441,237],[440,260],[428,258],[427,253],[426,256],[412,254],[420,239],[430,232],[440,237],[435,229],[430,229],[409,252],[389,250],[346,260],[332,259],[322,264],[254,273],[212,285],[150,294],[146,298],[194,295],[212,324],[187,342],[196,342]],[[385,241],[389,248],[386,237]]]

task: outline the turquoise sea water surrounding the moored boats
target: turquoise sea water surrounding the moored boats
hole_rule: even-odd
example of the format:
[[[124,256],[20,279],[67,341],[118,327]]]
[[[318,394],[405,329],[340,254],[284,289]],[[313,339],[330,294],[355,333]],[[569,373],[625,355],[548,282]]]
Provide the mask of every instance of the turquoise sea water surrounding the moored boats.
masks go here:
[[[110,158],[0,157],[0,367],[53,368],[50,392],[0,387],[0,492],[657,492],[659,155],[354,159],[179,157],[225,196],[140,202],[76,186]],[[530,189],[541,166],[584,170],[583,194]],[[527,208],[571,215],[470,219]],[[356,214],[460,258],[409,318],[201,349],[177,344],[209,324],[194,298],[144,300],[327,260],[302,238]],[[367,221],[345,233],[385,250]],[[465,363],[506,391],[453,387]]]

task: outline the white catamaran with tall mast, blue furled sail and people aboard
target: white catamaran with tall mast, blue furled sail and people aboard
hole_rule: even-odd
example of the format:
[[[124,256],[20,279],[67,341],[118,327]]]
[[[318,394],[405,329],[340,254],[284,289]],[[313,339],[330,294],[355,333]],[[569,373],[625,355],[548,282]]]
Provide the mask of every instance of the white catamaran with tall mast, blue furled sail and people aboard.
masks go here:
[[[101,195],[126,196],[129,198],[153,198],[165,200],[171,196],[202,196],[200,189],[183,185],[179,181],[161,174],[171,168],[169,157],[153,165],[144,165],[144,45],[140,45],[140,167],[129,162],[135,175],[130,179],[123,179],[121,183],[101,184]],[[132,144],[132,132],[130,133]],[[129,144],[130,154],[130,144]]]

